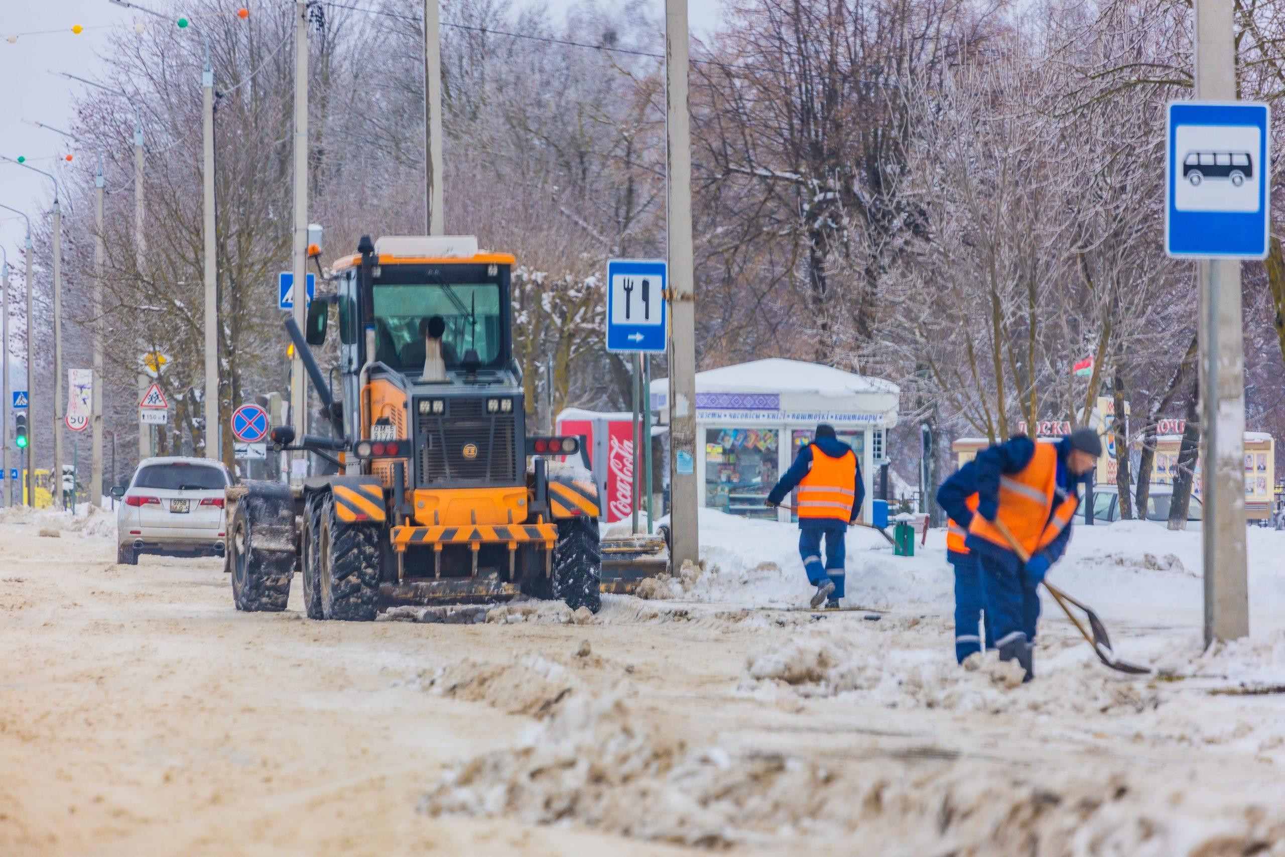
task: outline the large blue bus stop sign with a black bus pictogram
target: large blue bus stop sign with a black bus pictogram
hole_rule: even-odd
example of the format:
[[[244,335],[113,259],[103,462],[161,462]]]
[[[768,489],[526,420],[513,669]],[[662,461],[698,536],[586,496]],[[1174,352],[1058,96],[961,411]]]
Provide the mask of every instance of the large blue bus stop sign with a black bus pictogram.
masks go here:
[[[1164,249],[1181,258],[1266,258],[1271,163],[1266,104],[1171,102]]]

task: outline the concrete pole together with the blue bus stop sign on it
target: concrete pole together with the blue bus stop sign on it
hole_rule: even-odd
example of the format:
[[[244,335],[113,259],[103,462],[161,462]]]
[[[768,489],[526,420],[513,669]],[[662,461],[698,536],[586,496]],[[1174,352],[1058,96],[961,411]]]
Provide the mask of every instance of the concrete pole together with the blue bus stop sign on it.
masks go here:
[[[1198,102],[1168,107],[1164,245],[1199,260],[1204,639],[1249,633],[1240,261],[1267,256],[1270,116],[1236,103],[1231,0],[1196,0]]]

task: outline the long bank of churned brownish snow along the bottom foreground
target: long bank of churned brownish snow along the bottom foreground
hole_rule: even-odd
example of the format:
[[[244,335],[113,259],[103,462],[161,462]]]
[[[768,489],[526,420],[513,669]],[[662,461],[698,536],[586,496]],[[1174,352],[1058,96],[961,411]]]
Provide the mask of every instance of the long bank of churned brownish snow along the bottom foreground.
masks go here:
[[[625,690],[572,694],[517,741],[450,767],[419,802],[430,816],[577,822],[689,847],[851,848],[964,856],[1216,857],[1285,842],[1280,807],[1135,785],[1109,763],[1031,773],[951,753],[930,759],[691,748],[632,712]]]

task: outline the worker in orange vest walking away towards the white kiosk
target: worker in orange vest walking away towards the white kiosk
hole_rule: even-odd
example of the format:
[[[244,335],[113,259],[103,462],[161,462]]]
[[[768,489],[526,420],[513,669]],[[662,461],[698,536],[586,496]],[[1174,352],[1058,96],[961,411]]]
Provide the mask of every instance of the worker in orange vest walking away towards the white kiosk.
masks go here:
[[[834,427],[821,423],[812,442],[799,450],[794,464],[767,495],[767,505],[779,506],[785,495],[799,490],[799,556],[807,579],[816,587],[812,606],[838,608],[847,577],[848,526],[861,514],[865,484],[852,447],[842,442]],[[821,561],[821,540],[825,561]]]

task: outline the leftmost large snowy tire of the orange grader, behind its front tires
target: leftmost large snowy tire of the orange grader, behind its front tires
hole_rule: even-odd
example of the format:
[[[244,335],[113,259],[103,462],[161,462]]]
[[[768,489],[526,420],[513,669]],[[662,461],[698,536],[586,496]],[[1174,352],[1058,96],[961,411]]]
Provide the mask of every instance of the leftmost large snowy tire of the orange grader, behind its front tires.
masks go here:
[[[285,609],[294,576],[294,502],[289,490],[249,493],[236,504],[227,564],[238,610]]]

